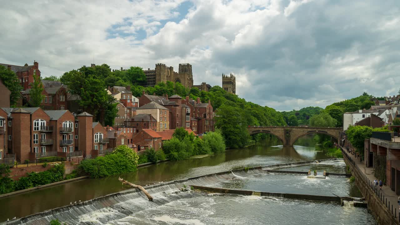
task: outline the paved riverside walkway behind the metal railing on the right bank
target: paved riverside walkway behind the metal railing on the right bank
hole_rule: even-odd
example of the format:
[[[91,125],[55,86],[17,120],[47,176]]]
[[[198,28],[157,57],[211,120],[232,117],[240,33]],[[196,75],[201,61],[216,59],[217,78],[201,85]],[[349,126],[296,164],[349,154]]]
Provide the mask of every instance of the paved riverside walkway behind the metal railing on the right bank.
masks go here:
[[[374,185],[374,180],[376,179],[378,182],[379,180],[374,176],[374,168],[366,167],[365,161],[360,162],[360,157],[352,155],[351,153],[347,153],[346,150],[342,149],[342,153],[344,157],[347,157],[356,167],[358,173],[360,173],[361,177],[368,183],[368,186],[378,195],[378,198],[381,199],[383,205],[392,212],[394,217],[398,219],[400,222],[400,210],[398,201],[398,195],[390,187],[383,185],[382,190],[379,189],[378,185]]]

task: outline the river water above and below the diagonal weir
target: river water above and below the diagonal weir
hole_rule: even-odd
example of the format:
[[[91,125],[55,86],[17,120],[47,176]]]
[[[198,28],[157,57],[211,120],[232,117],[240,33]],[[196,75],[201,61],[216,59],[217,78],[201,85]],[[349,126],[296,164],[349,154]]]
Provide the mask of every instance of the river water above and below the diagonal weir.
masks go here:
[[[140,168],[134,173],[120,175],[124,179],[146,185],[166,182],[211,173],[229,171],[243,167],[291,163],[327,159],[314,147],[282,147],[278,141],[266,140],[244,149],[230,149],[225,153],[178,162],[166,162]],[[316,169],[344,173],[343,162],[319,163],[288,167],[284,170],[307,171]],[[7,218],[24,217],[47,209],[69,205],[74,201],[86,201],[110,193],[129,189],[122,186],[118,176],[102,179],[84,179],[56,185],[36,191],[12,195],[0,199],[0,221]],[[255,177],[239,177],[234,181],[204,184],[234,189],[270,192],[286,192],[314,195],[359,197],[358,189],[344,177],[328,179],[306,179],[303,175],[264,174]],[[284,198],[268,198],[240,195],[217,195],[193,191],[175,195],[172,188],[154,189],[155,201],[150,203],[143,197],[124,196],[119,206],[90,205],[84,215],[74,216],[73,210],[52,215],[68,224],[371,224],[376,222],[366,209],[341,207],[337,203],[304,201]],[[171,195],[166,195],[165,193]],[[32,222],[27,224],[42,224]],[[43,223],[45,224],[45,223]]]

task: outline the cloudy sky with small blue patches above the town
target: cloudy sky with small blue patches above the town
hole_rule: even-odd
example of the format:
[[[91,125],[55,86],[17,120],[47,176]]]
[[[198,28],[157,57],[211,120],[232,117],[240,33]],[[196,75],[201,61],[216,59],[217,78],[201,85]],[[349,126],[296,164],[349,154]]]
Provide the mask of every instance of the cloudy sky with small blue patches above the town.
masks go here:
[[[43,76],[90,63],[190,63],[277,110],[397,94],[398,0],[0,0],[0,62]],[[62,2],[62,3],[60,3]]]

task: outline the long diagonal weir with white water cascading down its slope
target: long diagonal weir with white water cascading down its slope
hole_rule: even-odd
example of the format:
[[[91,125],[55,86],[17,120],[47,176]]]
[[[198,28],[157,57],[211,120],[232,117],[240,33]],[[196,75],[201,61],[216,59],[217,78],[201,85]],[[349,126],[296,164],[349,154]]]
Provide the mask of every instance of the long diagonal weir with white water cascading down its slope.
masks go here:
[[[331,159],[330,161],[332,160],[337,160],[337,159]],[[96,199],[92,199],[89,201],[84,201],[80,203],[67,205],[64,207],[50,209],[41,213],[14,219],[8,222],[6,221],[0,224],[1,225],[17,225],[17,224],[48,225],[49,221],[51,221],[52,219],[59,219],[60,221],[68,221],[68,224],[79,224],[86,222],[92,224],[93,221],[96,221],[96,223],[93,224],[106,224],[108,223],[108,221],[115,221],[118,219],[128,217],[129,215],[132,215],[132,213],[137,213],[146,209],[159,207],[161,205],[165,205],[179,199],[200,197],[202,195],[201,193],[196,193],[193,191],[186,191],[186,192],[176,191],[178,189],[182,189],[184,185],[196,185],[197,187],[205,187],[206,185],[204,184],[213,184],[218,182],[229,181],[235,178],[236,179],[242,178],[242,176],[244,175],[245,176],[254,175],[254,177],[257,177],[260,174],[268,175],[268,173],[272,171],[272,170],[268,171],[268,168],[280,168],[280,167],[306,165],[313,163],[316,163],[316,161],[284,163],[278,165],[243,168],[221,173],[204,175],[200,177],[193,177],[189,179],[181,179],[177,181],[158,183],[156,185],[150,185],[145,187],[146,190],[154,197],[153,202],[148,201],[146,196],[137,189],[129,189],[126,191],[105,195],[103,197],[98,197]],[[283,174],[282,172],[285,171],[279,171],[276,173]],[[293,174],[293,171],[286,171],[286,173]],[[303,172],[301,172],[301,174],[303,174]],[[115,182],[118,182],[118,180],[116,180]],[[215,189],[216,187],[207,187],[207,188]],[[238,194],[241,195],[243,194],[243,192],[246,192],[243,190],[237,190],[237,191]],[[254,191],[250,192],[251,195],[254,194]],[[273,192],[263,192],[263,191],[257,191],[257,193],[260,193],[261,196],[285,197],[285,198],[295,198],[295,196],[303,196],[294,193],[273,193]],[[307,199],[304,196],[303,198]],[[322,197],[311,196],[308,197],[308,199],[319,200],[322,199]],[[333,196],[324,197],[324,200],[326,199],[332,199],[328,201],[340,201]],[[106,215],[106,216],[99,216],[99,215]]]

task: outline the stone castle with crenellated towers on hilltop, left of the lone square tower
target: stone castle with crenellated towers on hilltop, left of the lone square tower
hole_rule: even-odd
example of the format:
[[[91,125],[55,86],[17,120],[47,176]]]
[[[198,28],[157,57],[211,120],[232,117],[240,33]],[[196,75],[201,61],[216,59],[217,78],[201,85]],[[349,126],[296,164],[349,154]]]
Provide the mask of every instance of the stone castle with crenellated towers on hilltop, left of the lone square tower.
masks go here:
[[[188,63],[179,64],[178,72],[174,71],[174,67],[157,63],[154,70],[144,70],[147,78],[146,86],[155,86],[159,82],[180,82],[186,88],[193,86],[192,65]]]

